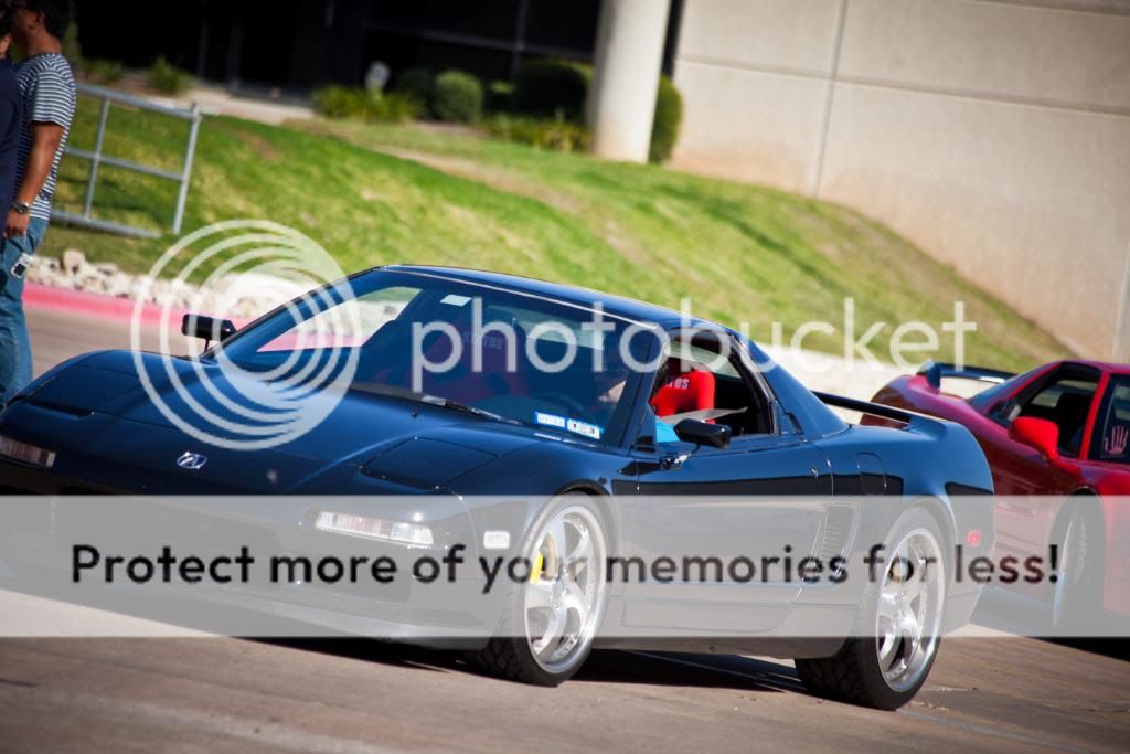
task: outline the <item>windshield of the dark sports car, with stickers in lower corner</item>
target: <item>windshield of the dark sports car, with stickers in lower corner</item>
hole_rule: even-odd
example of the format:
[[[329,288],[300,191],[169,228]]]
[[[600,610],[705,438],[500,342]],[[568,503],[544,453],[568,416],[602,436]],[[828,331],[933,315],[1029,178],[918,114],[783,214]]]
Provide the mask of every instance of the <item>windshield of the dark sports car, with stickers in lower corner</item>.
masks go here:
[[[618,442],[657,332],[532,294],[374,271],[288,304],[209,356],[268,379],[324,372],[357,392]]]

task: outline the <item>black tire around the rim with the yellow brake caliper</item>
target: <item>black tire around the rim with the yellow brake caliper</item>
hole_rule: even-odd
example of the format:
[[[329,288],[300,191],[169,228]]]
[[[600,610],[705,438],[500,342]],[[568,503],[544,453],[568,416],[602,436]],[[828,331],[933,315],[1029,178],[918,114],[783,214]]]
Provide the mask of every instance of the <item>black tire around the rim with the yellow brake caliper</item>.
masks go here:
[[[584,494],[563,495],[550,504],[545,513],[539,517],[529,532],[527,532],[523,547],[520,552],[532,554],[545,534],[546,527],[563,512],[583,510],[597,523],[599,534],[599,558],[597,566],[591,574],[594,579],[594,587],[598,592],[593,607],[593,633],[600,626],[603,618],[605,604],[607,599],[607,584],[603,579],[605,555],[608,552],[607,527],[600,509],[591,497]],[[594,538],[596,539],[596,538]],[[527,630],[527,607],[525,607],[527,584],[511,584],[510,592],[503,605],[503,614],[494,638],[487,645],[475,652],[473,658],[469,658],[472,666],[483,668],[488,673],[528,683],[537,686],[557,686],[573,677],[592,651],[592,636],[579,642],[573,652],[567,656],[567,661],[553,666],[539,660],[532,647],[532,640]]]

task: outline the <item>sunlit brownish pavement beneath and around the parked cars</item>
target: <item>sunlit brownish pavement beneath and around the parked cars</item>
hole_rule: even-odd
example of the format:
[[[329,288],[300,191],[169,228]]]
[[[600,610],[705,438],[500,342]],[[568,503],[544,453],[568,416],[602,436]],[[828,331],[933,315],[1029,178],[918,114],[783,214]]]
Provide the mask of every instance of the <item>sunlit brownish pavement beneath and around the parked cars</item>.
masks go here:
[[[128,341],[101,321],[31,321],[37,369]],[[0,752],[1127,751],[1127,653],[1093,649],[949,639],[888,713],[810,696],[790,662],[760,658],[596,652],[546,690],[365,640],[8,639]]]

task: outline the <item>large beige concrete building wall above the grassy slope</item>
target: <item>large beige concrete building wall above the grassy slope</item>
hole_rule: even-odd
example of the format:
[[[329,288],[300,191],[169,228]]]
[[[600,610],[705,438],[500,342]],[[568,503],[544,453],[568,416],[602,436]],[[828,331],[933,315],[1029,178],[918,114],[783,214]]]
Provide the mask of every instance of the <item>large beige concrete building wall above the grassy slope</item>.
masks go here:
[[[840,201],[1130,361],[1130,0],[698,0],[676,165]]]

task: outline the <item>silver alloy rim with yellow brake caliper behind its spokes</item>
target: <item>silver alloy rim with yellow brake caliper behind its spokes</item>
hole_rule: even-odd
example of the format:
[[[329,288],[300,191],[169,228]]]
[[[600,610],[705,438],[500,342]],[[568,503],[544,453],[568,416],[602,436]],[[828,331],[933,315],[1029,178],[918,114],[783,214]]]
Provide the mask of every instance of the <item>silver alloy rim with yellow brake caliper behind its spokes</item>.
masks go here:
[[[564,673],[584,658],[603,615],[605,532],[592,511],[572,505],[555,513],[534,541],[525,636],[538,665]]]

